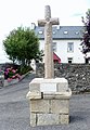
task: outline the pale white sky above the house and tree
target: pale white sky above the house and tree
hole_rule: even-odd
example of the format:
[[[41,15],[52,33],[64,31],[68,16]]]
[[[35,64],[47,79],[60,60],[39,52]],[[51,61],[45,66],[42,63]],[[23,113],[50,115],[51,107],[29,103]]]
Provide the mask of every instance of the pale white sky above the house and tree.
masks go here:
[[[0,0],[0,63],[8,62],[2,41],[14,28],[31,27],[44,18],[44,5],[51,6],[52,17],[60,26],[82,25],[81,16],[90,9],[90,0]]]

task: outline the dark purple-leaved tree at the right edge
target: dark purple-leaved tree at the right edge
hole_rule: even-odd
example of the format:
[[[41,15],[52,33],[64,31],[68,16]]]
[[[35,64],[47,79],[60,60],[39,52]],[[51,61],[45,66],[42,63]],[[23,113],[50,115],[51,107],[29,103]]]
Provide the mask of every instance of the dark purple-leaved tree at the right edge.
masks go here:
[[[82,17],[82,23],[85,24],[85,31],[82,37],[82,53],[86,54],[90,52],[90,9],[86,13],[86,21]]]

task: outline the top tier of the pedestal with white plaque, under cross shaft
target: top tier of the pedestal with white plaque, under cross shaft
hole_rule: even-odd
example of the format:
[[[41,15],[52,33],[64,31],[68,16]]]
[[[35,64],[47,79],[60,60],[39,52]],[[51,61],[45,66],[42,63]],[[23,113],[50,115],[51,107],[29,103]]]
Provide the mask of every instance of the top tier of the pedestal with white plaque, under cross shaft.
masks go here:
[[[35,78],[29,83],[30,92],[65,92],[68,90],[68,82],[65,78],[43,79]]]

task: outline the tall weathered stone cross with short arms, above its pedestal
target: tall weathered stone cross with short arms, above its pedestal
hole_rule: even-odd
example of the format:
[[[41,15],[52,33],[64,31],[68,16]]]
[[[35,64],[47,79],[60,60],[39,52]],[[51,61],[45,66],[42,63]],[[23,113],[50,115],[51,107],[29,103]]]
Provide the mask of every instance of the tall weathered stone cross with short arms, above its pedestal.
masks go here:
[[[59,18],[51,18],[50,5],[46,5],[44,20],[38,26],[44,26],[44,78],[54,78],[52,25],[59,25]]]

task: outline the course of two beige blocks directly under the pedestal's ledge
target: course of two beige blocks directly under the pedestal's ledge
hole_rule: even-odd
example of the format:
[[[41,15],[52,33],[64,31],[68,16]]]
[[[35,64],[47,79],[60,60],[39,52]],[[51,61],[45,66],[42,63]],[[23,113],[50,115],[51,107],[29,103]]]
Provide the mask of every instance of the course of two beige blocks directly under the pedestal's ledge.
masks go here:
[[[69,101],[68,99],[61,100],[30,100],[30,113],[52,113],[52,114],[68,114]]]

